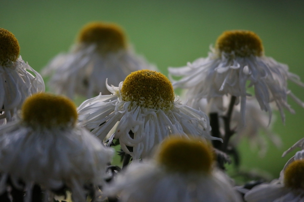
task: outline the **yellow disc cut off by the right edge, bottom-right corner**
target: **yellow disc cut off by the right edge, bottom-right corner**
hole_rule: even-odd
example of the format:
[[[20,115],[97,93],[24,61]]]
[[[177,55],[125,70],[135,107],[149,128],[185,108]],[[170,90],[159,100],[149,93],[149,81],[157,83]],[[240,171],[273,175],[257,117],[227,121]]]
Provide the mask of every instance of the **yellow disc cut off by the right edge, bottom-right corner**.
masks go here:
[[[304,191],[304,159],[293,161],[284,172],[284,184]]]

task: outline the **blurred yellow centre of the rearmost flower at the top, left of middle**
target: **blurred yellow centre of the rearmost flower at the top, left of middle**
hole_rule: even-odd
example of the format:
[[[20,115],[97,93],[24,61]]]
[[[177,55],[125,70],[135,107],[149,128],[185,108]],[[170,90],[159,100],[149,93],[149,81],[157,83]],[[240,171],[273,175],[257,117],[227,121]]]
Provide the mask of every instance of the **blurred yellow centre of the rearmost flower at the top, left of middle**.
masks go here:
[[[126,37],[123,30],[115,24],[93,22],[80,31],[78,40],[86,44],[96,44],[101,54],[126,49]]]

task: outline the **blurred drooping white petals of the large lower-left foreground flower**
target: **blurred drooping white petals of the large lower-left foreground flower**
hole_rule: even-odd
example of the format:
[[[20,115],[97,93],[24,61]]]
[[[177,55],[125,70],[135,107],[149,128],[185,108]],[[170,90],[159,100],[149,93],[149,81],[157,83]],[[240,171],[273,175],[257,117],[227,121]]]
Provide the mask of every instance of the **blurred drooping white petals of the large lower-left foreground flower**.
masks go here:
[[[27,127],[12,121],[0,127],[0,190],[6,190],[11,177],[15,187],[25,182],[26,201],[30,201],[34,184],[43,190],[64,185],[72,190],[75,202],[85,201],[85,184],[103,185],[106,165],[114,151],[80,127]]]

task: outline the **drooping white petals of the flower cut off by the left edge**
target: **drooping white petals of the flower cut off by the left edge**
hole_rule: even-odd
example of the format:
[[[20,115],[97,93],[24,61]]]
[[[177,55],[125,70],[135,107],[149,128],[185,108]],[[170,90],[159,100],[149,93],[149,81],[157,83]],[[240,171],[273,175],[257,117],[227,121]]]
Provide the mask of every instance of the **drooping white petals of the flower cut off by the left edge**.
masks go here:
[[[14,119],[27,97],[44,90],[40,74],[25,63],[21,56],[15,62],[8,61],[0,65],[0,124]]]

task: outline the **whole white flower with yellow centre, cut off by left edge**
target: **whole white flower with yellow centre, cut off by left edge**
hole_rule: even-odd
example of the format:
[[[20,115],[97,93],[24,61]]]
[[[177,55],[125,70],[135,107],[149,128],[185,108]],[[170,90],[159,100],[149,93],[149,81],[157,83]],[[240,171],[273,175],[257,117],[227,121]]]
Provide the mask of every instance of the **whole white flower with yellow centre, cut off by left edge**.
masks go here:
[[[23,101],[45,90],[40,74],[18,58],[20,46],[16,37],[0,28],[0,125],[16,117]],[[30,70],[36,77],[30,74]]]

